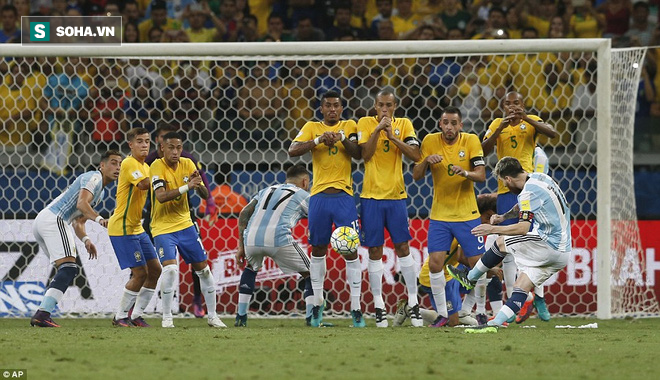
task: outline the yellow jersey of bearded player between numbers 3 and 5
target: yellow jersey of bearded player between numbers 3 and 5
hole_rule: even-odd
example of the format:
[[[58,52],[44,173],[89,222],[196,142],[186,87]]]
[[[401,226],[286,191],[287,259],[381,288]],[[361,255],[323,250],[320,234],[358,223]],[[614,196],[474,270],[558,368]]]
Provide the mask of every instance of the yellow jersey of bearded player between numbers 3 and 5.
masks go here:
[[[454,174],[451,168],[458,165],[471,170],[475,165],[484,165],[479,137],[461,132],[456,143],[447,145],[442,140],[442,133],[430,133],[422,141],[422,160],[432,154],[442,156],[442,162],[429,166],[433,176],[431,219],[465,222],[478,218],[474,182]]]

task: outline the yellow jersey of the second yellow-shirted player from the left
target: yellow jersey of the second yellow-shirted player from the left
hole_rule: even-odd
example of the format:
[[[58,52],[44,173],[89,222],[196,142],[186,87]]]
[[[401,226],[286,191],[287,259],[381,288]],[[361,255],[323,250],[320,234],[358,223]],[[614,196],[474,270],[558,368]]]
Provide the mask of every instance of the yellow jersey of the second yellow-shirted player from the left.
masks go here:
[[[181,194],[169,202],[160,203],[156,199],[156,189],[178,189],[188,183],[190,175],[197,170],[191,159],[181,157],[176,170],[167,166],[164,158],[151,164],[151,235],[158,236],[181,231],[193,225],[190,219],[188,194]]]

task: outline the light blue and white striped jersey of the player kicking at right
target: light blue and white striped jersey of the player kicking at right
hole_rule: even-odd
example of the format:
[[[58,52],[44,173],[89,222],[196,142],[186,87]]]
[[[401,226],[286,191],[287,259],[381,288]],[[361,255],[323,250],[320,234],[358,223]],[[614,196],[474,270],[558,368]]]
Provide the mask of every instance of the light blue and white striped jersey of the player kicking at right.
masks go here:
[[[532,233],[560,252],[571,250],[571,209],[564,193],[552,178],[532,173],[518,195],[520,212],[534,214]]]

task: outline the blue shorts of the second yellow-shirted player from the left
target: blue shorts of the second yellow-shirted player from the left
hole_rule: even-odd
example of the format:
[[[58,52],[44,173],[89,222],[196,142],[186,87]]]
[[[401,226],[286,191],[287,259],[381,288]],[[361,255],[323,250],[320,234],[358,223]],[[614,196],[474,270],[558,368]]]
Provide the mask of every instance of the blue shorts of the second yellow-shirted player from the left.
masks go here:
[[[195,226],[155,236],[154,243],[161,263],[167,260],[175,260],[177,248],[183,261],[187,264],[206,261],[206,251]]]

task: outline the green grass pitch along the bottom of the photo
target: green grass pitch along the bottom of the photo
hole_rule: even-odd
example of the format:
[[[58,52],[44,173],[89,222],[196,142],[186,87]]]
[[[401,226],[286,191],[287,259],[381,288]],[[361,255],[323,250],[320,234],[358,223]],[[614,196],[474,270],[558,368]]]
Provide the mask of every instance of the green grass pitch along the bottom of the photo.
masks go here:
[[[65,319],[34,328],[0,319],[0,369],[28,379],[650,379],[660,373],[660,319],[529,319],[497,334],[462,328],[332,328],[304,320],[250,319],[212,329],[113,328],[109,319]],[[159,319],[147,322],[160,326]],[[597,322],[598,329],[555,329]],[[535,329],[521,326],[535,325]]]

